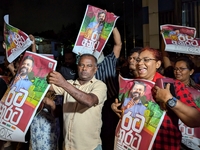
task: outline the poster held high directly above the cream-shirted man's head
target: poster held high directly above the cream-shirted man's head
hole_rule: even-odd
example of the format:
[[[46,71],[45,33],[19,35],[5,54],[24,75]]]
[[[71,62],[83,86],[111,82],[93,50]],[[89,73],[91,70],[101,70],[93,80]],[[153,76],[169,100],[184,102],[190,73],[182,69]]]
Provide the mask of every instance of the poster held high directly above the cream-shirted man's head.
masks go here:
[[[87,5],[73,52],[90,53],[98,59],[118,18],[106,10]]]

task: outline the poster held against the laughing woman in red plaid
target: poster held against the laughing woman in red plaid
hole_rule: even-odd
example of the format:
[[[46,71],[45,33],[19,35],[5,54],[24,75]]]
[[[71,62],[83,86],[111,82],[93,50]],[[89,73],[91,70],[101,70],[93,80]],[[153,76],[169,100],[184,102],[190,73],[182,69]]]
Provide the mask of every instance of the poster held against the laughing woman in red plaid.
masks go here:
[[[119,76],[123,111],[115,131],[115,150],[151,150],[165,111],[154,101],[154,82]]]

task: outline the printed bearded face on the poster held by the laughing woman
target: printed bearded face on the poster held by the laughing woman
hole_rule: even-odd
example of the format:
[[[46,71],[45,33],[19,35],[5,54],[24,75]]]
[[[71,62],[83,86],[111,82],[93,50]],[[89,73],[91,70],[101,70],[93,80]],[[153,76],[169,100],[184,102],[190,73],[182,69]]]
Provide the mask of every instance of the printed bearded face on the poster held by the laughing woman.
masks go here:
[[[130,97],[134,100],[140,99],[144,95],[144,85],[135,84],[132,90],[130,91]]]

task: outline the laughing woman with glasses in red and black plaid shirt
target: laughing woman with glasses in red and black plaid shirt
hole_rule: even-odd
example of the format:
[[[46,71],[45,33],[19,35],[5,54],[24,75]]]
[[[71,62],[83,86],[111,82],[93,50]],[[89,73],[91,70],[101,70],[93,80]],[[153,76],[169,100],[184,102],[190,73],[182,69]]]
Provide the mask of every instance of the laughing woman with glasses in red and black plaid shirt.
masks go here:
[[[161,66],[161,54],[156,49],[143,48],[137,58],[137,70],[139,78],[155,82],[163,78],[157,70]],[[193,98],[185,88],[185,85],[176,80],[174,83],[176,97],[170,93],[170,84],[165,89],[155,86],[152,90],[154,98],[159,103],[166,105],[167,113],[154,141],[153,149],[179,150],[181,146],[181,132],[178,127],[180,119],[189,127],[200,126],[200,110],[193,102]],[[112,104],[113,111],[121,117],[121,110],[117,107],[121,104],[116,100]]]

